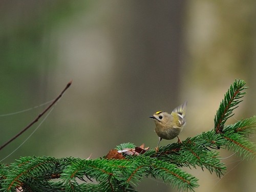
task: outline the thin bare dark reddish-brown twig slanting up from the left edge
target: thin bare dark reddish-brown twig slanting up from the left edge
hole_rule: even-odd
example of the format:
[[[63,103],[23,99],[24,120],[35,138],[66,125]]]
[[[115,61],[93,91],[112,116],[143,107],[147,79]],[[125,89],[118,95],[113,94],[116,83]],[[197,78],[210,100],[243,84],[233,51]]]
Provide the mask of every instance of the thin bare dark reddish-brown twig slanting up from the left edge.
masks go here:
[[[17,135],[15,135],[13,138],[11,138],[9,141],[7,141],[5,144],[3,144],[0,147],[0,151],[6,145],[8,145],[10,142],[12,142],[14,139],[16,139],[18,136],[22,135],[25,131],[27,131],[29,129],[29,127],[31,127],[34,123],[36,123],[39,120],[39,118],[41,116],[43,116],[59,100],[59,98],[63,95],[63,93],[65,93],[65,91],[71,86],[71,84],[72,84],[72,80],[70,82],[68,82],[66,88],[63,89],[63,91],[58,95],[58,97],[56,97],[56,99],[54,99],[54,101],[42,113],[40,113],[28,126],[26,126],[22,131],[20,131]]]

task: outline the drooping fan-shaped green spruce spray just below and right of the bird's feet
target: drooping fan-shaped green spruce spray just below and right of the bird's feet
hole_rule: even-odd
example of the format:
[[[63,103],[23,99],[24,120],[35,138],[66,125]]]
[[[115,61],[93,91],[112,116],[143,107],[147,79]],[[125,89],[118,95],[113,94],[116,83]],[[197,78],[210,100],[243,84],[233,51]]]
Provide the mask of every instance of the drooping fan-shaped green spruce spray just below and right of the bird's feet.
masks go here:
[[[207,132],[210,135],[215,132],[209,131]],[[159,153],[154,153],[154,150],[147,151],[145,156],[157,157],[164,161],[170,161],[178,166],[186,166],[186,167],[194,167],[197,166],[206,168],[210,173],[215,172],[217,176],[221,177],[224,175],[226,166],[224,163],[221,163],[219,153],[216,151],[211,151],[207,147],[217,146],[218,140],[216,138],[202,139],[202,135],[207,135],[207,133],[203,133],[194,138],[188,138],[185,141],[180,143],[172,143],[166,146],[161,146],[159,148]],[[212,142],[215,139],[215,144]],[[225,141],[225,139],[221,138]],[[207,144],[206,144],[207,143]]]

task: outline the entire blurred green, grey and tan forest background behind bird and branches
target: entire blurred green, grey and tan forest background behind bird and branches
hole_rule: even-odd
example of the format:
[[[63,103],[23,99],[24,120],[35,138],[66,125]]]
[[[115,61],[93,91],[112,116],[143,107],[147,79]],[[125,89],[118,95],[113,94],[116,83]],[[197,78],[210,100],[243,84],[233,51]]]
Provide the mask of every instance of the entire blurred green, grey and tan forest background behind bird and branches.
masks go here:
[[[46,121],[3,162],[33,155],[94,159],[124,142],[154,148],[158,137],[148,116],[185,100],[187,125],[180,138],[193,137],[213,128],[236,78],[250,89],[228,122],[255,115],[255,10],[254,0],[0,1],[1,144],[47,105],[35,106],[54,99],[73,79]],[[197,191],[255,190],[255,162],[230,155],[221,150],[228,157],[221,180],[207,170],[187,170],[200,179]],[[176,191],[153,178],[137,189]]]

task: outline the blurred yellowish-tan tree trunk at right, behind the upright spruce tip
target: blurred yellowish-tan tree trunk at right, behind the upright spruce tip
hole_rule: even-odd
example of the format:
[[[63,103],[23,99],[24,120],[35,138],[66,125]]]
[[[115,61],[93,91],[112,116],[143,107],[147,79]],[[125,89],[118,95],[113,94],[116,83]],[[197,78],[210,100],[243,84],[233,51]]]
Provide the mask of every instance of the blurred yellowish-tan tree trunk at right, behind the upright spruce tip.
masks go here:
[[[218,107],[223,97],[220,93],[224,94],[236,78],[244,79],[250,87],[236,117],[255,115],[255,1],[190,1],[188,8],[187,63],[190,66],[187,66],[189,73],[185,84],[186,90],[190,90],[187,91],[189,98],[194,100],[190,110],[195,112],[195,126],[212,121],[214,114],[210,114],[209,109]],[[196,93],[203,93],[203,96]],[[204,114],[203,119],[200,114]],[[230,120],[234,122],[236,117]],[[229,155],[222,154],[223,157]],[[255,190],[255,162],[240,162],[236,155],[223,161],[230,172],[218,183],[205,177],[205,173],[200,174],[201,186],[197,191]]]

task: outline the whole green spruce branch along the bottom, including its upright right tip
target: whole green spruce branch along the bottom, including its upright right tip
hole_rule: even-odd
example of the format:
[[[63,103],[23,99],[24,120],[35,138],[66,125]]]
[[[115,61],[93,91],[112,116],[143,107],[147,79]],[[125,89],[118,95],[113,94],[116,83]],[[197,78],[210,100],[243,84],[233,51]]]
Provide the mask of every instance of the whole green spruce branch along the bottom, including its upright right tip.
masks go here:
[[[160,146],[159,152],[144,144],[123,143],[97,159],[22,157],[10,165],[0,163],[0,191],[131,191],[147,177],[163,180],[179,190],[194,191],[198,179],[181,167],[207,169],[218,177],[225,174],[219,148],[232,150],[244,159],[254,159],[256,116],[226,125],[247,89],[236,80],[225,94],[215,116],[214,129],[182,143]],[[54,179],[58,179],[55,181]],[[78,182],[80,180],[80,182]]]

